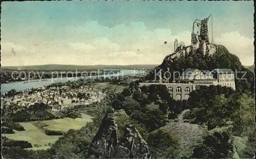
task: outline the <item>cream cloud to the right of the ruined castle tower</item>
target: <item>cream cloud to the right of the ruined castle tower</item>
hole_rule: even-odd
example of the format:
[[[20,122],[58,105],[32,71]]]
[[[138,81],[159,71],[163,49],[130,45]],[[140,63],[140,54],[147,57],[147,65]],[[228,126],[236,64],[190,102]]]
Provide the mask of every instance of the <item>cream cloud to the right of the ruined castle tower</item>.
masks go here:
[[[241,35],[238,31],[221,34],[214,39],[217,44],[225,46],[231,54],[237,55],[243,65],[254,62],[253,38]]]

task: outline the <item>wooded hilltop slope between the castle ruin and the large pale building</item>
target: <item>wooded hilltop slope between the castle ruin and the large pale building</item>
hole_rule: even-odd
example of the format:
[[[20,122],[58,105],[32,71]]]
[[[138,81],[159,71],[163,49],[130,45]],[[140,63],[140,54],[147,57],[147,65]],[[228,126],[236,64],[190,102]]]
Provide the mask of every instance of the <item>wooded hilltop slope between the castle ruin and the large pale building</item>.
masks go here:
[[[167,71],[173,75],[173,72],[183,72],[188,68],[199,69],[199,70],[209,70],[214,69],[231,69],[236,73],[236,89],[238,92],[251,92],[254,93],[254,74],[245,68],[242,65],[239,58],[236,55],[229,53],[226,47],[217,45],[216,53],[213,55],[203,55],[202,50],[199,48],[196,51],[191,51],[185,56],[179,58],[171,58],[171,55],[168,55],[164,58],[162,64],[155,67],[155,70],[158,72],[160,69],[163,72]],[[162,77],[164,73],[162,72]],[[167,76],[167,74],[165,74]],[[145,77],[145,80],[154,80],[155,72],[154,70]],[[167,77],[166,77],[167,78]],[[243,78],[243,79],[242,79]]]

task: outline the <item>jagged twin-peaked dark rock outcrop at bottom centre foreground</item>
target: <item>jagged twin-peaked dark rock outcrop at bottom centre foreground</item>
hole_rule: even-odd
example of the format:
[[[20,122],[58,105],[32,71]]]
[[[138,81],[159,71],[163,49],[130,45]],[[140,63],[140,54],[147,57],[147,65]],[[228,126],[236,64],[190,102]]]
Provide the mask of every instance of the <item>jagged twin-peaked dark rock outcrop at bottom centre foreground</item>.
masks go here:
[[[151,158],[147,143],[133,125],[127,125],[118,142],[113,113],[107,113],[95,135],[87,158]]]

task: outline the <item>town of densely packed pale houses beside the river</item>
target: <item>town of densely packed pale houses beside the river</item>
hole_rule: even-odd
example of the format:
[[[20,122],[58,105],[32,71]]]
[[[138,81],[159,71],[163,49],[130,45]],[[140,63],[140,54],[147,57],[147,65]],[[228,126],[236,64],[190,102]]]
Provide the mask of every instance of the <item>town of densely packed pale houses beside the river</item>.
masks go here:
[[[86,106],[93,102],[100,102],[106,96],[106,90],[101,87],[80,86],[71,88],[63,86],[39,86],[30,90],[24,90],[13,97],[8,93],[1,95],[1,108],[4,106],[17,105],[20,107],[30,107],[35,103],[44,103],[52,107],[52,111],[66,111],[74,106]]]

